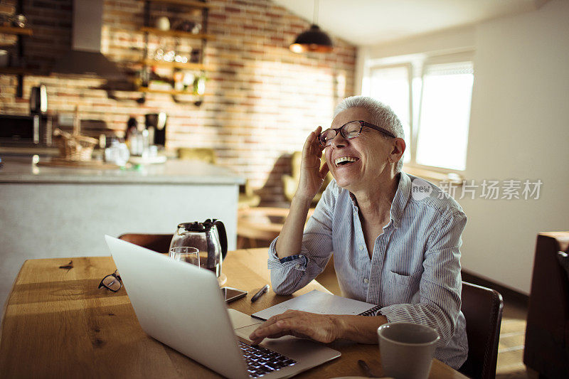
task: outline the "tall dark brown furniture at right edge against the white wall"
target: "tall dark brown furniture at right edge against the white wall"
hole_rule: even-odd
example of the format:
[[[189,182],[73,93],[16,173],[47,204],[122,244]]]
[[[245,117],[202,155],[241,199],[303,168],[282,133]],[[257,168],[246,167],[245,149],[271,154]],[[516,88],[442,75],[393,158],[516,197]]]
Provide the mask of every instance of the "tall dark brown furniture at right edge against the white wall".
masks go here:
[[[538,234],[523,363],[540,378],[569,378],[569,279],[557,257],[567,250],[569,232]]]

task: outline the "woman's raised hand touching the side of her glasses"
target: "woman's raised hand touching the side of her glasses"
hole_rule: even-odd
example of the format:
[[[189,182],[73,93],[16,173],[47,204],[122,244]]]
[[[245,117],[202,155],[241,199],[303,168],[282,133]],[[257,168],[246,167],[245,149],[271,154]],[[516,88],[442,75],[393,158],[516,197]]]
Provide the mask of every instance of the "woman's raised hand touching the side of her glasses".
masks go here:
[[[328,174],[328,165],[321,165],[321,156],[324,147],[319,143],[318,137],[322,127],[311,132],[302,148],[302,162],[300,164],[300,179],[297,193],[294,197],[302,201],[312,201],[320,190],[324,178]]]

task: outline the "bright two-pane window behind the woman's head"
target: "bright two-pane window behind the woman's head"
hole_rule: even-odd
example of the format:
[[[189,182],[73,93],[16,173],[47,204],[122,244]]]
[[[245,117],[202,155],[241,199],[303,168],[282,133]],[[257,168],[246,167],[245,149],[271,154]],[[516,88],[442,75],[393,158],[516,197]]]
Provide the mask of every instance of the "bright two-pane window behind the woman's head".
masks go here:
[[[462,171],[473,82],[472,60],[457,55],[375,65],[362,87],[366,95],[390,105],[401,119],[407,144],[405,164]]]

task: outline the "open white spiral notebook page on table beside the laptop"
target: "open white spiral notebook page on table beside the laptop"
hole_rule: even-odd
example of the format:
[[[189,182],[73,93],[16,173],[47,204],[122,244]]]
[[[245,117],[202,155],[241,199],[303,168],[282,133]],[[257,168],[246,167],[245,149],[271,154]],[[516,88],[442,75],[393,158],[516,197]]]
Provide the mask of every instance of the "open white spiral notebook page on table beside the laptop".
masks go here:
[[[276,314],[282,314],[289,309],[305,311],[317,314],[352,314],[361,316],[373,316],[380,306],[369,304],[364,301],[348,299],[346,297],[326,294],[316,289],[299,297],[294,297],[280,304],[270,306],[258,311],[251,316],[257,319],[267,320]]]

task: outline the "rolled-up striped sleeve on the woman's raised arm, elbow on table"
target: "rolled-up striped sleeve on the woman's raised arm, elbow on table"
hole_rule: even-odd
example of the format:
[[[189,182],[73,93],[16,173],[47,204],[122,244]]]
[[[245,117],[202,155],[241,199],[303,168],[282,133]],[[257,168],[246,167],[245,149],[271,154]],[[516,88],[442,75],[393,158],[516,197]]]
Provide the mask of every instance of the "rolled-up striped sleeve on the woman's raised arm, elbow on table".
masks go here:
[[[271,284],[277,294],[287,295],[301,289],[326,267],[332,254],[332,213],[338,187],[332,181],[308,220],[302,235],[301,251],[279,259],[275,248],[278,237],[269,247],[268,267]]]

